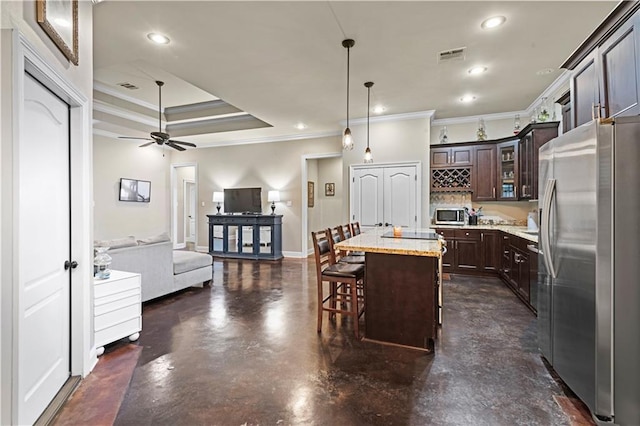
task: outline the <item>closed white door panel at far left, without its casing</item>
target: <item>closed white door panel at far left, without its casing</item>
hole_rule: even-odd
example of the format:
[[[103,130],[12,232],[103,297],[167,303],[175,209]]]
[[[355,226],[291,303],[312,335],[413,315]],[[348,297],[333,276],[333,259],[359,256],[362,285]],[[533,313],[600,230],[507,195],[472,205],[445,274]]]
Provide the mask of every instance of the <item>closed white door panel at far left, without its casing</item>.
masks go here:
[[[18,146],[18,423],[70,376],[69,106],[28,74]]]

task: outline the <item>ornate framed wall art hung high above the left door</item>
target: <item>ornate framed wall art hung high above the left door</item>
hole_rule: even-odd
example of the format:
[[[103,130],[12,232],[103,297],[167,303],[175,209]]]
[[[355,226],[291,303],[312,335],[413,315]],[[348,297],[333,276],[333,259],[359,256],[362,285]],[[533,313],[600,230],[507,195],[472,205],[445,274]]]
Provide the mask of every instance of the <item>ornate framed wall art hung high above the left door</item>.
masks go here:
[[[36,19],[64,56],[78,65],[78,0],[36,0]]]

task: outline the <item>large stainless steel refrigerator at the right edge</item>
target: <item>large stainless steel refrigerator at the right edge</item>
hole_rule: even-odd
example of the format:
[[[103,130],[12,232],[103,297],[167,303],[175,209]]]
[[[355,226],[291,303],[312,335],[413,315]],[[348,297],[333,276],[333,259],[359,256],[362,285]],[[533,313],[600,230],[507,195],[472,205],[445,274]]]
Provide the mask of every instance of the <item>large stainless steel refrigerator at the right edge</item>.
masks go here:
[[[640,425],[640,117],[539,154],[540,350],[599,423]]]

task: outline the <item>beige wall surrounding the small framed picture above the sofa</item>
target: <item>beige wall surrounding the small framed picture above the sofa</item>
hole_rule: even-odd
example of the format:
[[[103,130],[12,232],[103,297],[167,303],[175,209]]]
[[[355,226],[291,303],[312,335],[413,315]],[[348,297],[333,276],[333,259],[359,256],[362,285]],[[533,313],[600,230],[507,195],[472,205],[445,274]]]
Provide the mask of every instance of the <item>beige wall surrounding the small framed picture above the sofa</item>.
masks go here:
[[[134,235],[144,238],[169,232],[170,153],[139,141],[94,136],[94,237],[97,240]],[[151,182],[151,201],[119,201],[120,178]]]

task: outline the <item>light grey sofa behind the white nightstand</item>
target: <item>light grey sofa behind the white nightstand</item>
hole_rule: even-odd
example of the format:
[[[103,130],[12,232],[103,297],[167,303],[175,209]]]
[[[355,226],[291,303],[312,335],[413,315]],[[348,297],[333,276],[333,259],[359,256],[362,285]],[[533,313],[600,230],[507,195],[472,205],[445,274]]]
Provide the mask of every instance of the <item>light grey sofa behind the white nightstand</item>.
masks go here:
[[[134,236],[94,243],[111,247],[111,269],[136,272],[142,278],[142,301],[171,294],[187,287],[210,284],[213,258],[209,254],[173,250],[167,234],[146,239]]]

